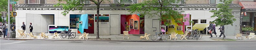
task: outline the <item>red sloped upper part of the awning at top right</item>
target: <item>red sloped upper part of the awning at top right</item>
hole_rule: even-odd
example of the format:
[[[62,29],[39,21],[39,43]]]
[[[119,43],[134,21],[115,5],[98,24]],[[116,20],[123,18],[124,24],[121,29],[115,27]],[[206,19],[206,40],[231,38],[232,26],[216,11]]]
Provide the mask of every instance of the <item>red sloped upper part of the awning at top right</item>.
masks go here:
[[[243,6],[241,9],[256,9],[256,2],[239,2]]]

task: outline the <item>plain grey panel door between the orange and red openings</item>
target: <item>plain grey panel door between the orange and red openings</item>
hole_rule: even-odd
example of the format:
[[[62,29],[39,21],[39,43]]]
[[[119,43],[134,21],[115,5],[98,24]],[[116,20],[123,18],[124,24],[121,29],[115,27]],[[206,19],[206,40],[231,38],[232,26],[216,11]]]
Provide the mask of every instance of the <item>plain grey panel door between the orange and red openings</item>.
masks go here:
[[[119,35],[119,15],[110,15],[110,35]]]

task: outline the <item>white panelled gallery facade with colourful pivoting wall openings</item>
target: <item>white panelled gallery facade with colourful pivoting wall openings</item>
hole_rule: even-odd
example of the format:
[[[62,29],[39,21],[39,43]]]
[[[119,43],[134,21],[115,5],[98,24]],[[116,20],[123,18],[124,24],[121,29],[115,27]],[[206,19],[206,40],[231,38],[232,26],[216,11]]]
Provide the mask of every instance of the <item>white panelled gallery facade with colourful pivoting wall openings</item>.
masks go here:
[[[48,0],[46,0],[48,1]],[[45,2],[46,2],[45,1]],[[187,1],[186,1],[187,2]],[[39,2],[40,3],[40,2]],[[46,2],[47,3],[47,2]],[[182,4],[180,7],[174,7],[173,10],[184,11],[182,14],[189,20],[194,21],[194,23],[184,22],[184,25],[179,25],[174,23],[174,20],[167,21],[174,25],[174,27],[167,26],[165,31],[176,32],[178,34],[183,34],[187,28],[192,28],[195,23],[198,24],[209,24],[209,21],[213,21],[216,18],[211,18],[213,13],[210,10],[218,10],[215,4]],[[54,7],[54,4],[19,4],[15,5],[15,10],[17,12],[16,18],[16,29],[21,29],[22,22],[25,22],[26,33],[29,33],[29,23],[34,26],[34,33],[45,32],[48,34],[53,33],[55,30],[62,31],[63,28],[70,28],[72,32],[77,34],[86,32],[89,35],[96,35],[96,5],[90,4],[83,7],[83,10],[74,9],[75,11],[70,11],[66,16],[62,15],[61,12],[64,10],[62,6]],[[227,25],[226,34],[234,35],[240,31],[240,9],[239,4],[230,5],[233,9],[232,15],[235,16],[237,21],[231,26]],[[139,13],[130,14],[128,8],[121,5],[110,5],[102,4],[99,10],[99,35],[122,35],[123,31],[129,31],[129,34],[155,34],[153,30],[159,30],[159,20],[157,17],[139,17]],[[208,35],[206,27],[200,33]],[[219,27],[216,27],[218,29]],[[220,33],[217,31],[217,33]]]

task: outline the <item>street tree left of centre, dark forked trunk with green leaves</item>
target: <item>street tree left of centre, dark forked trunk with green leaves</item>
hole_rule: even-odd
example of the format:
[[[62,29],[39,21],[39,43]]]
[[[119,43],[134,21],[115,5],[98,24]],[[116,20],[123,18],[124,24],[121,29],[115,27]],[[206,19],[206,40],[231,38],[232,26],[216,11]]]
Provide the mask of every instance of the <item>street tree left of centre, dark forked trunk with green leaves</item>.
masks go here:
[[[63,15],[67,15],[69,11],[74,11],[75,9],[82,11],[83,6],[85,6],[86,1],[91,1],[94,4],[96,4],[97,7],[97,36],[96,39],[99,39],[99,5],[101,3],[104,3],[105,1],[110,2],[110,0],[58,0],[60,2],[66,2],[66,3],[58,3],[57,5],[54,6],[63,6],[64,11],[61,12]]]

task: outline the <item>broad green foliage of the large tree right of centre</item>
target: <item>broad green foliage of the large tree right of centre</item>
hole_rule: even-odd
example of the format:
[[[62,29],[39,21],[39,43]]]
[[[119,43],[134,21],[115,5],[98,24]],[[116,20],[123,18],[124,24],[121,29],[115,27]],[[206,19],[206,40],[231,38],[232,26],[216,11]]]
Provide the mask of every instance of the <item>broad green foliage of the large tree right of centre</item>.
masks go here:
[[[179,5],[173,5],[174,3],[184,2],[181,0],[144,0],[142,3],[133,4],[128,6],[130,14],[140,13],[142,16],[147,15],[148,17],[158,17],[161,21],[167,19],[174,19],[176,23],[182,24],[184,15],[181,13],[184,11],[172,10],[174,7],[179,7]],[[168,25],[169,23],[165,23]]]

